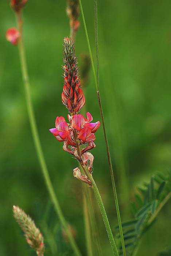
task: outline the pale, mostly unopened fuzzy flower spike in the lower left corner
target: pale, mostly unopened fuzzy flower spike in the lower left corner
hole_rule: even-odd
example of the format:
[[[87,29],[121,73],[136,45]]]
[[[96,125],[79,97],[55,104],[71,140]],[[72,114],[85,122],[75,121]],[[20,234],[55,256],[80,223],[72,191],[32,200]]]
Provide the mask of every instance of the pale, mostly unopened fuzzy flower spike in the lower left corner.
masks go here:
[[[27,243],[36,250],[38,256],[44,255],[43,236],[34,221],[18,206],[13,206],[13,217],[24,232]]]

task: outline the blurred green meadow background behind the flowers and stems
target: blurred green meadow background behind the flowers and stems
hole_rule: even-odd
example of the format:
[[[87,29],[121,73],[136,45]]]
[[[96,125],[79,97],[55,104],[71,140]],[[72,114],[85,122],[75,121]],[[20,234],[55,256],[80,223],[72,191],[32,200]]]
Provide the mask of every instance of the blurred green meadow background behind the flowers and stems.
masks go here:
[[[100,89],[122,220],[132,217],[130,202],[137,185],[171,166],[171,1],[98,1]],[[94,5],[83,0],[94,61]],[[30,256],[12,217],[19,205],[42,230],[47,255],[72,255],[47,193],[28,122],[18,48],[5,39],[15,26],[8,0],[0,1],[0,256]],[[75,42],[88,53],[82,24]],[[69,35],[66,1],[28,0],[24,8],[24,43],[32,101],[43,152],[63,214],[76,232],[83,255],[86,242],[82,185],[74,179],[78,163],[48,131],[57,115],[67,117],[61,103],[62,40]],[[86,110],[100,120],[92,69],[86,87]],[[114,231],[117,224],[102,127],[96,133],[93,177]],[[126,177],[126,180],[125,180]],[[127,192],[129,191],[129,192]],[[94,200],[103,255],[112,255],[104,223]],[[138,255],[158,255],[170,244],[171,204],[163,208],[144,236]],[[55,229],[54,240],[51,238]],[[48,239],[50,244],[48,244]],[[52,251],[51,251],[52,250]]]

